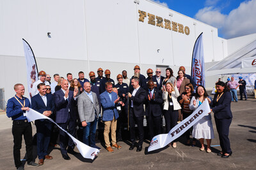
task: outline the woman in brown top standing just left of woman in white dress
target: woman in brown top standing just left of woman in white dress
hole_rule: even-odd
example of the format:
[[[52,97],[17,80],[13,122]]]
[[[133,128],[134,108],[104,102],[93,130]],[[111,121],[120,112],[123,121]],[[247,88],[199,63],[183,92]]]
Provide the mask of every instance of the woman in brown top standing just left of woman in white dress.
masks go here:
[[[183,115],[183,119],[189,117],[191,115],[191,113],[193,112],[192,110],[189,109],[189,103],[191,101],[192,96],[195,96],[194,94],[194,88],[193,85],[191,83],[188,83],[185,85],[185,92],[183,92],[179,98],[178,101],[181,104],[181,109],[182,109],[182,115]],[[193,127],[191,127],[190,129],[188,129],[188,131],[186,131],[184,133],[184,135],[186,136],[187,139],[187,143],[186,145],[190,145],[190,132],[193,131]],[[193,138],[193,143],[192,146],[196,145],[196,139]]]

